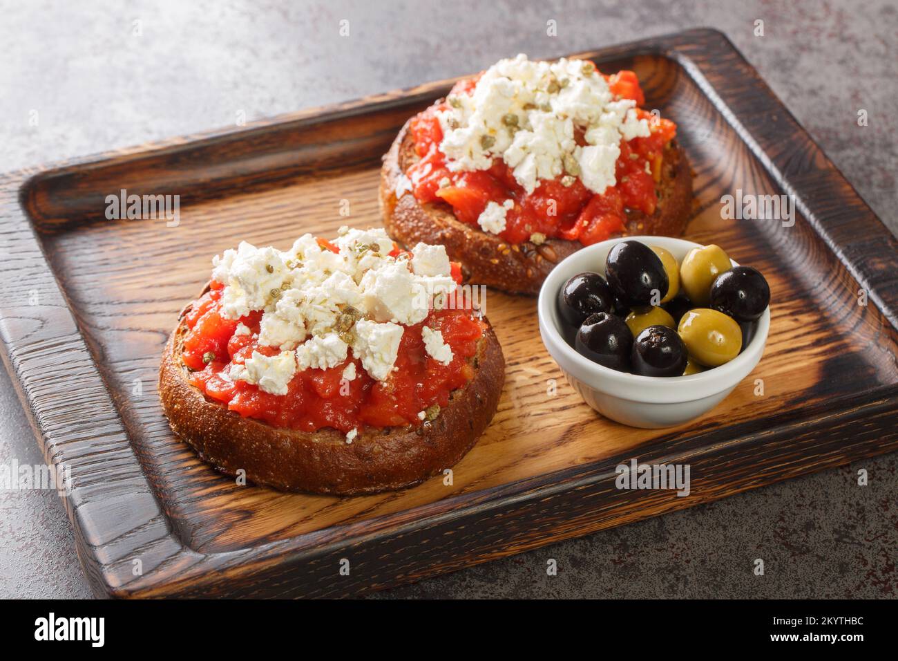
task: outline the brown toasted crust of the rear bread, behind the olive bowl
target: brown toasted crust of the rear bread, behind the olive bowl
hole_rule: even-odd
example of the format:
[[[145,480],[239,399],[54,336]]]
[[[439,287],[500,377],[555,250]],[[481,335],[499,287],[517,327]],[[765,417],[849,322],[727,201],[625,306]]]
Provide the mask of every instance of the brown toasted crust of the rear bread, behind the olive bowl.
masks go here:
[[[529,241],[509,245],[494,234],[456,219],[448,204],[422,204],[410,192],[397,198],[396,184],[418,158],[409,121],[383,157],[380,204],[387,233],[407,248],[418,241],[445,246],[449,258],[462,263],[466,282],[511,293],[539,293],[542,281],[555,264],[583,245],[559,238],[550,238],[540,246]],[[629,211],[627,229],[621,234],[677,237],[686,228],[691,216],[692,174],[682,148],[675,141],[665,153],[657,192],[655,213],[646,216],[641,211]]]

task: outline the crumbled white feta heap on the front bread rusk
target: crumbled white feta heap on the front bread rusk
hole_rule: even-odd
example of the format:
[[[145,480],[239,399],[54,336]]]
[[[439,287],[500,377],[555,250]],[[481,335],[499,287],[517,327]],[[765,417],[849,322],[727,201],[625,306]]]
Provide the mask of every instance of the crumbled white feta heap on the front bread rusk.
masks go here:
[[[227,314],[239,318],[261,310],[259,344],[289,354],[269,358],[255,352],[245,364],[237,356],[231,378],[286,393],[295,371],[346,362],[351,336],[365,371],[385,380],[396,362],[400,324],[420,323],[435,296],[457,287],[443,246],[418,244],[410,259],[392,257],[392,239],[381,228],[340,228],[333,246],[337,252],[306,234],[286,252],[242,243],[216,257],[213,278],[225,284]],[[250,335],[251,329],[240,323],[235,333]],[[354,363],[343,378],[357,378]]]

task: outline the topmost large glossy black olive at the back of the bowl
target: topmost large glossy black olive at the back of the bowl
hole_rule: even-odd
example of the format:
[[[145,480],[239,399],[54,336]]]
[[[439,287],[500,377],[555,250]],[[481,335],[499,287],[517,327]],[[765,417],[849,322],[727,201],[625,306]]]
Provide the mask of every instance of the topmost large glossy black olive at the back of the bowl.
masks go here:
[[[605,262],[605,278],[614,294],[631,308],[657,305],[670,286],[661,258],[638,241],[621,241],[612,247]]]

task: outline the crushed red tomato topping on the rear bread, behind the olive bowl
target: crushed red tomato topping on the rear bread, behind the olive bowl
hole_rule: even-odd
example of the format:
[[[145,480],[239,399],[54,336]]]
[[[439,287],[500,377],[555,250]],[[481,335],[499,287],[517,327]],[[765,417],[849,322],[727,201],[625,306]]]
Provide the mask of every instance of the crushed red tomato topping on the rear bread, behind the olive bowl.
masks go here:
[[[651,216],[658,202],[656,184],[661,181],[665,147],[674,139],[676,125],[641,108],[645,96],[632,71],[603,77],[617,98],[637,103],[638,119],[646,119],[651,131],[646,138],[621,139],[621,156],[615,164],[616,185],[594,194],[578,177],[573,183],[568,179],[570,185],[564,185],[562,175],[542,180],[528,194],[501,158],[494,158],[488,170],[453,172],[446,167],[446,156],[440,150],[443,129],[436,113],[449,107],[444,101],[418,113],[409,124],[419,156],[406,172],[415,198],[420,202],[444,201],[453,208],[457,219],[475,227],[490,201],[501,204],[513,200],[514,206],[506,213],[506,228],[498,235],[512,244],[541,234],[589,246],[620,232],[626,220],[625,210],[639,210]],[[449,95],[472,94],[477,80],[475,76],[458,82]],[[582,130],[575,131],[575,139],[578,145],[585,145]]]

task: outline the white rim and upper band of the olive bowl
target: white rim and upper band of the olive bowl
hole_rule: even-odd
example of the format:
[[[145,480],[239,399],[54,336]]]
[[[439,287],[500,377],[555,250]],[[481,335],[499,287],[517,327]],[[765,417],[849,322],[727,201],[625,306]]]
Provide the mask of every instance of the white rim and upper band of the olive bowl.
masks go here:
[[[634,401],[677,403],[687,402],[715,395],[727,388],[732,388],[743,380],[761,360],[763,349],[767,343],[767,335],[770,331],[770,306],[764,309],[757,320],[757,329],[752,341],[732,361],[726,362],[707,371],[697,374],[689,374],[680,377],[647,377],[629,372],[612,370],[596,362],[590,361],[568,344],[559,330],[559,315],[556,309],[558,290],[564,281],[578,272],[588,269],[571,269],[570,264],[578,264],[587,259],[588,255],[610,249],[611,246],[621,241],[640,241],[647,245],[656,245],[670,249],[701,247],[705,244],[695,243],[677,237],[617,237],[601,241],[592,246],[585,246],[572,255],[556,264],[549,276],[543,281],[539,298],[537,299],[537,317],[539,319],[540,334],[543,344],[549,351],[555,362],[559,363],[564,371],[570,371],[578,380],[585,381],[591,388],[601,392],[632,399]],[[730,262],[734,266],[739,264],[732,258]],[[565,268],[568,264],[568,268]],[[569,273],[568,273],[569,271]],[[604,271],[602,264],[598,272]],[[562,365],[561,360],[568,363]],[[602,385],[596,385],[600,380]]]

